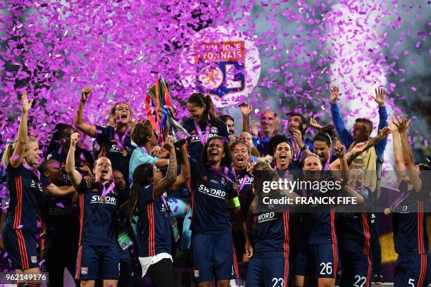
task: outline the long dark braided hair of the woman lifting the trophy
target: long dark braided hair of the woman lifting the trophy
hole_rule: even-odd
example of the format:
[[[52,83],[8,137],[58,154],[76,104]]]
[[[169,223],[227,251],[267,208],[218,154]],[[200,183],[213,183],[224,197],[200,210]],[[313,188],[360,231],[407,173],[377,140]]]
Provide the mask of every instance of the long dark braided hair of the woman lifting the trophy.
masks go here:
[[[153,165],[151,163],[144,163],[139,165],[133,172],[133,186],[130,189],[130,198],[120,207],[120,211],[124,211],[129,219],[138,215],[138,197],[139,191],[142,187],[151,184],[153,179]]]

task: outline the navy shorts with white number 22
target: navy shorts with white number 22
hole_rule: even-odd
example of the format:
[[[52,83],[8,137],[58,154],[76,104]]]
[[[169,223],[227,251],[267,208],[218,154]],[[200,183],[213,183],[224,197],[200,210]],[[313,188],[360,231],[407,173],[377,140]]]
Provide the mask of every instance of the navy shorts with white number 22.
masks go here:
[[[344,262],[344,264],[340,287],[371,286],[371,274],[373,274],[373,269],[370,255],[342,253],[342,262]]]

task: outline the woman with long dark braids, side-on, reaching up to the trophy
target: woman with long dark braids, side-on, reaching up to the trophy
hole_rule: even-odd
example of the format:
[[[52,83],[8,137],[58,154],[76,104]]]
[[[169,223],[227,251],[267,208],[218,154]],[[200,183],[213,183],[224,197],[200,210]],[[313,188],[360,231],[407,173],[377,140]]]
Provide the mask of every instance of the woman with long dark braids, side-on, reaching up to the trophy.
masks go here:
[[[130,220],[139,215],[137,245],[142,276],[148,273],[154,286],[177,286],[172,258],[172,236],[180,238],[177,222],[168,205],[168,193],[175,191],[190,178],[189,160],[185,146],[181,147],[181,173],[177,176],[177,158],[172,136],[163,148],[169,151],[165,177],[155,164],[144,163],[133,172],[130,199],[121,207]]]

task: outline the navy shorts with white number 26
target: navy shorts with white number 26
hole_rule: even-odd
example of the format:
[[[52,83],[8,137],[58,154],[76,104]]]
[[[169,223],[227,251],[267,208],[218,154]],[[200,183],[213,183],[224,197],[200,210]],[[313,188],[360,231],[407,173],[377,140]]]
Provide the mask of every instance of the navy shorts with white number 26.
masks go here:
[[[337,268],[337,244],[308,245],[306,276],[311,278],[335,278]]]

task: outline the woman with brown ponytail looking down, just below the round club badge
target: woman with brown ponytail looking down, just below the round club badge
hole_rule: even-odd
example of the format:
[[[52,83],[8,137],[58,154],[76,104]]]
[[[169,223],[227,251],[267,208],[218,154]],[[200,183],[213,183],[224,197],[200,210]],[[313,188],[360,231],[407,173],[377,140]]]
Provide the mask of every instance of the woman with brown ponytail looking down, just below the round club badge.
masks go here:
[[[189,155],[199,162],[202,148],[213,136],[229,139],[227,125],[218,119],[211,96],[193,93],[187,100],[190,117],[185,117],[182,127],[192,135],[189,138]]]

